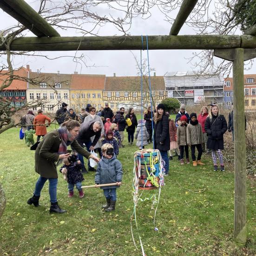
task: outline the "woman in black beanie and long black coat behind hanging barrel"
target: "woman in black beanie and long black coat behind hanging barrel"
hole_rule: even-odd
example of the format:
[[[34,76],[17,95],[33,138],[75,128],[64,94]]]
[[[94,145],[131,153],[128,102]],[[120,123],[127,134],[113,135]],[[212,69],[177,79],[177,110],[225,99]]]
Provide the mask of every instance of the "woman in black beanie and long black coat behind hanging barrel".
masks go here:
[[[170,150],[170,135],[169,135],[169,117],[165,114],[164,104],[158,104],[157,112],[155,114],[154,127],[154,146],[161,153],[165,162],[164,175],[169,173],[169,158],[168,151]]]

